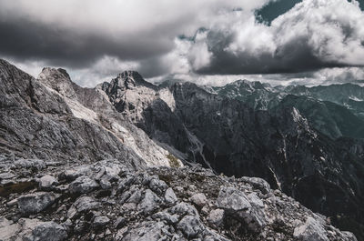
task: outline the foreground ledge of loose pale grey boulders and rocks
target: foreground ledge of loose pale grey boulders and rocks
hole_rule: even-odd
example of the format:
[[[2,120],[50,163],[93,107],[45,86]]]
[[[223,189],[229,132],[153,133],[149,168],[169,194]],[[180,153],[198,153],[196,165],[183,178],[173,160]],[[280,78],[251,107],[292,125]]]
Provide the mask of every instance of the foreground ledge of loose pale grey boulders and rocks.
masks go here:
[[[136,171],[117,160],[9,168],[0,240],[357,240],[256,177],[200,166]]]

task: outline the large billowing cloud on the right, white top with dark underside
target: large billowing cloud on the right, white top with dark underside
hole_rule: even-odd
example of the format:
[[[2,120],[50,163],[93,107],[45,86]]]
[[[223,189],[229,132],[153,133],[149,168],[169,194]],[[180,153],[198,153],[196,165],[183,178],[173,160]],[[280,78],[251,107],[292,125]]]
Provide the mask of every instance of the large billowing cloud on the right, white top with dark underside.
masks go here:
[[[304,0],[271,25],[228,12],[203,40],[191,41],[191,68],[203,75],[297,73],[364,65],[364,13],[357,1]],[[188,40],[186,40],[188,41]],[[210,61],[198,65],[196,45]]]

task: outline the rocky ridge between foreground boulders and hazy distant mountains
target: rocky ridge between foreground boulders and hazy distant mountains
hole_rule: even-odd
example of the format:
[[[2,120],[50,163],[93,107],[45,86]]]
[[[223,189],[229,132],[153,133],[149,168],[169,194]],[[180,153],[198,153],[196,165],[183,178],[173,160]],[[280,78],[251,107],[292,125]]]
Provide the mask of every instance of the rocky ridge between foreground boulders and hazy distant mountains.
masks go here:
[[[329,215],[335,225],[354,222],[349,229],[359,238],[362,234],[360,223],[355,223],[363,214],[361,143],[322,135],[294,106],[279,106],[272,114],[241,100],[210,94],[192,83],[152,85],[135,72],[121,73],[96,88],[82,88],[63,70],[45,68],[43,75],[34,79],[7,62],[0,64],[2,168],[9,172],[7,176],[0,174],[2,185],[34,182],[25,166],[36,166],[44,158],[68,159],[66,163],[56,161],[60,167],[45,162],[50,175],[60,172],[58,168],[94,168],[90,166],[105,159],[140,172],[148,166],[198,163],[228,176],[264,177],[273,189],[279,188],[313,211]],[[31,121],[37,126],[30,128]],[[41,135],[35,135],[39,131]],[[30,137],[20,138],[24,133]],[[73,146],[65,144],[68,139]],[[349,149],[352,142],[357,147]],[[12,146],[21,147],[15,152]],[[29,156],[41,160],[18,159]],[[14,159],[19,168],[11,167]],[[43,169],[34,172],[42,176]],[[97,185],[109,186],[96,175],[85,175],[78,182],[95,186],[90,190],[96,188],[96,193]],[[66,196],[63,189],[60,192]],[[344,214],[349,221],[340,223],[337,214]]]

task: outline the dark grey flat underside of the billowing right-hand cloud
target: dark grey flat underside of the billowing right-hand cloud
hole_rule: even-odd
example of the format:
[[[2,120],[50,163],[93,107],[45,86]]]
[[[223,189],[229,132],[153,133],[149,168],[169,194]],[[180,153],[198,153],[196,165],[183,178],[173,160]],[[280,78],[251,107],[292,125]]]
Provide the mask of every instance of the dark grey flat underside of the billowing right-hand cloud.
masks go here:
[[[346,64],[323,61],[308,45],[306,37],[297,37],[279,46],[274,53],[232,53],[228,46],[234,36],[210,32],[208,50],[212,54],[209,65],[197,69],[200,75],[251,75],[300,73],[326,67],[344,67]],[[253,40],[254,41],[254,40]]]

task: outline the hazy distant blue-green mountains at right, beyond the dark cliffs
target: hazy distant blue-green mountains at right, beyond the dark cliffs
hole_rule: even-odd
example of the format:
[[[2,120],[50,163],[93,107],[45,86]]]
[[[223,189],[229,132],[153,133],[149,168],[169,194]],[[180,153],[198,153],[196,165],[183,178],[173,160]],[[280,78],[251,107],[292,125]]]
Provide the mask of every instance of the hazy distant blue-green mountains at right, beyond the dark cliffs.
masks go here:
[[[212,93],[243,101],[257,110],[269,111],[278,105],[296,107],[312,127],[332,139],[364,138],[364,87],[359,85],[272,87],[238,80],[212,89]]]

